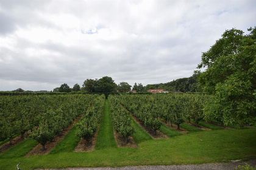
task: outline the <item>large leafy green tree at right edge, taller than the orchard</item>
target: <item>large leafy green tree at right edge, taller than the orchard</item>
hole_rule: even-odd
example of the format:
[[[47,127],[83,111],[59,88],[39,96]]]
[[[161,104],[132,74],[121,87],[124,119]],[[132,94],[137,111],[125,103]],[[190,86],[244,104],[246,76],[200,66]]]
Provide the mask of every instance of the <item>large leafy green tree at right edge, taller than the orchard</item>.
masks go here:
[[[215,95],[204,111],[208,119],[224,124],[253,124],[256,121],[256,27],[231,29],[207,52],[197,69],[198,81],[205,92]]]

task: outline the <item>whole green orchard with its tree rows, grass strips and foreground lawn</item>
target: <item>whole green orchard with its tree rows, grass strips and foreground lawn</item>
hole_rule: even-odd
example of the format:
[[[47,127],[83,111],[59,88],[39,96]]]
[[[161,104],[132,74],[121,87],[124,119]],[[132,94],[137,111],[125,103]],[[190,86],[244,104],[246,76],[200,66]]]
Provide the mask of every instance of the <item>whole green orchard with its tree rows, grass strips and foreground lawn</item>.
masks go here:
[[[255,127],[223,126],[221,117],[205,115],[210,98],[204,94],[120,94],[108,99],[96,94],[0,95],[0,169],[13,169],[19,161],[21,168],[35,169],[255,158]],[[49,151],[36,151],[39,146]]]

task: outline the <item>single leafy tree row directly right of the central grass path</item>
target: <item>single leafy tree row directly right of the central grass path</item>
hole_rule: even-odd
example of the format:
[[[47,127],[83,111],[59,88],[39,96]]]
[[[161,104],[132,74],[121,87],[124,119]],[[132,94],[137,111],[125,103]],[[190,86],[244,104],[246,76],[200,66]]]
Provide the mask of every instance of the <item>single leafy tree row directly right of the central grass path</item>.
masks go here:
[[[115,131],[124,137],[127,144],[128,137],[135,132],[129,112],[120,106],[119,100],[116,98],[116,96],[109,95],[108,101],[110,104]]]

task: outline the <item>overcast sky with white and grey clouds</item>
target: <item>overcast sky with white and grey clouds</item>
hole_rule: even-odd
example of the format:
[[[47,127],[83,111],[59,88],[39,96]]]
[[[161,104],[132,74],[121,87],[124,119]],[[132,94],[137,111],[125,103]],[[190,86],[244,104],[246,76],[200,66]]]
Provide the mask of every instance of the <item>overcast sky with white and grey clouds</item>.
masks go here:
[[[256,26],[255,0],[0,0],[0,91],[190,77],[226,29]]]

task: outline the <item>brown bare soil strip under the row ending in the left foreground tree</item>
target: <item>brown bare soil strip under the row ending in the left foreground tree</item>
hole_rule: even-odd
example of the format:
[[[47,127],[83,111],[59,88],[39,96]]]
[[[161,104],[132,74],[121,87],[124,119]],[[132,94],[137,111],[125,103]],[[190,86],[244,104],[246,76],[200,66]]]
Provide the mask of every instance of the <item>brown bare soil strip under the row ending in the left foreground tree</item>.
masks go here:
[[[74,126],[74,123],[79,121],[81,117],[82,117],[81,115],[79,117],[77,117],[68,127],[63,129],[62,132],[55,135],[54,138],[52,139],[52,141],[48,141],[45,144],[44,151],[42,151],[42,149],[41,149],[42,146],[39,143],[39,144],[37,144],[37,146],[35,146],[33,149],[31,149],[31,151],[29,151],[24,157],[29,157],[29,156],[32,156],[32,155],[46,155],[46,154],[48,154],[51,151],[51,149],[53,149],[59,141],[63,140],[65,135],[68,134],[70,129],[72,129],[72,127]]]

